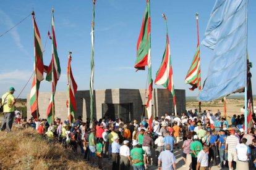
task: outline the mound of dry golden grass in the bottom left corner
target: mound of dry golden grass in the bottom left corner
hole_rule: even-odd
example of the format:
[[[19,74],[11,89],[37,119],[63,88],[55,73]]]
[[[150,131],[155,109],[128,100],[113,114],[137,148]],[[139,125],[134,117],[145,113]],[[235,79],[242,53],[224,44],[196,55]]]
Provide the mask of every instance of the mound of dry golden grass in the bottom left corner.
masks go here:
[[[0,132],[0,169],[98,169],[60,144],[48,144],[33,129]]]

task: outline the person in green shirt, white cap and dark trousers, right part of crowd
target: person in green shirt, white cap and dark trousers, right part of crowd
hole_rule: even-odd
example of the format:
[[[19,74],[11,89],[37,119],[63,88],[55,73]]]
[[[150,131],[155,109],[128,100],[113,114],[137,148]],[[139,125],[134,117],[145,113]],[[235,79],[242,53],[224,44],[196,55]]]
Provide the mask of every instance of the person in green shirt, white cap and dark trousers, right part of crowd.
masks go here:
[[[203,149],[203,145],[201,142],[199,142],[199,138],[197,135],[194,135],[194,142],[190,145],[190,150],[192,151],[191,153],[191,158],[192,158],[192,170],[197,169],[197,155],[198,153]]]

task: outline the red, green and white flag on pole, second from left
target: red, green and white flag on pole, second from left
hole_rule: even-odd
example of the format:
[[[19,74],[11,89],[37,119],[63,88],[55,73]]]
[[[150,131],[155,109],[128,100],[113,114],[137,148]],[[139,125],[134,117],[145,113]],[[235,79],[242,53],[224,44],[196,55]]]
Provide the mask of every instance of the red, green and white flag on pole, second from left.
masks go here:
[[[51,63],[49,64],[46,80],[51,82],[51,99],[47,108],[47,121],[48,123],[53,123],[54,115],[55,115],[55,105],[54,105],[54,95],[56,92],[56,85],[58,83],[59,77],[61,76],[61,65],[59,64],[59,57],[57,52],[57,42],[55,36],[55,28],[54,28],[54,11],[52,10],[52,22],[51,22],[51,31],[52,36],[51,39],[53,41],[52,45],[52,55],[51,55]]]

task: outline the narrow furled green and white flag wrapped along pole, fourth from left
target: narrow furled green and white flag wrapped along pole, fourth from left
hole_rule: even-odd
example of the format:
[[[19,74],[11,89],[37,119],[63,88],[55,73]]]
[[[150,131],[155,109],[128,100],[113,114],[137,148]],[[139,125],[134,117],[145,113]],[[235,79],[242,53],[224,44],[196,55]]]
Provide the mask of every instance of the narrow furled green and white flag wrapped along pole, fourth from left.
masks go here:
[[[91,58],[91,75],[90,75],[90,123],[93,123],[93,79],[94,79],[94,17],[95,17],[95,2],[93,0],[93,19],[92,19],[92,58]]]

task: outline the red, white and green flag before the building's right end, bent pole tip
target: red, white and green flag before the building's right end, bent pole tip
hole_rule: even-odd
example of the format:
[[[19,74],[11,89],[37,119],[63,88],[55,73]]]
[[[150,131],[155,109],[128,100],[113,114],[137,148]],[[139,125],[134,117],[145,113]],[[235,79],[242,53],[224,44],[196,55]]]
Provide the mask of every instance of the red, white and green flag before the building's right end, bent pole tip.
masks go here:
[[[168,36],[168,26],[167,18],[162,14],[164,21],[166,23],[166,47],[163,55],[163,60],[161,62],[160,68],[156,72],[155,84],[162,85],[168,89],[171,94],[173,94],[173,103],[174,103],[174,112],[177,115],[176,110],[176,95],[174,92],[174,83],[173,83],[173,67],[171,65],[171,53],[169,46],[169,36]]]

